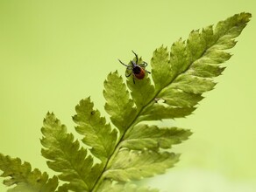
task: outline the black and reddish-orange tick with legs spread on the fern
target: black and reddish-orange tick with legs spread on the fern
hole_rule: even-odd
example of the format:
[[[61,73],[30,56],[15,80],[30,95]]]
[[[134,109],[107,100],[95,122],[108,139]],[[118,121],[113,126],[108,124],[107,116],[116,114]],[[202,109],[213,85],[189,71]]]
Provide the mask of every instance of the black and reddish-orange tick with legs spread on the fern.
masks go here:
[[[138,58],[138,55],[132,51],[133,54],[135,55],[136,57],[136,61],[131,61],[131,65],[125,65],[121,60],[119,60],[119,62],[126,66],[126,69],[127,71],[131,71],[130,73],[126,73],[125,76],[126,77],[130,77],[131,75],[133,75],[133,83],[135,84],[135,79],[144,79],[145,77],[145,74],[146,72],[146,66],[147,66],[147,63],[145,61],[143,61],[141,64],[138,64],[138,61],[139,61],[139,58]],[[148,72],[148,73],[151,73],[151,72]]]

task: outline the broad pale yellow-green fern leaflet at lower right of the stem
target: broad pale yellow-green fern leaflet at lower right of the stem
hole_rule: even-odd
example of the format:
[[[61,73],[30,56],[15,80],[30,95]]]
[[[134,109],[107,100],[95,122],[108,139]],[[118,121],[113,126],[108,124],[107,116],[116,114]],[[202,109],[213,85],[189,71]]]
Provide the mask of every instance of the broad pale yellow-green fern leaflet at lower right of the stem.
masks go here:
[[[174,166],[179,156],[179,154],[169,152],[122,149],[103,176],[117,182],[128,182],[155,174],[163,174],[167,168]]]

